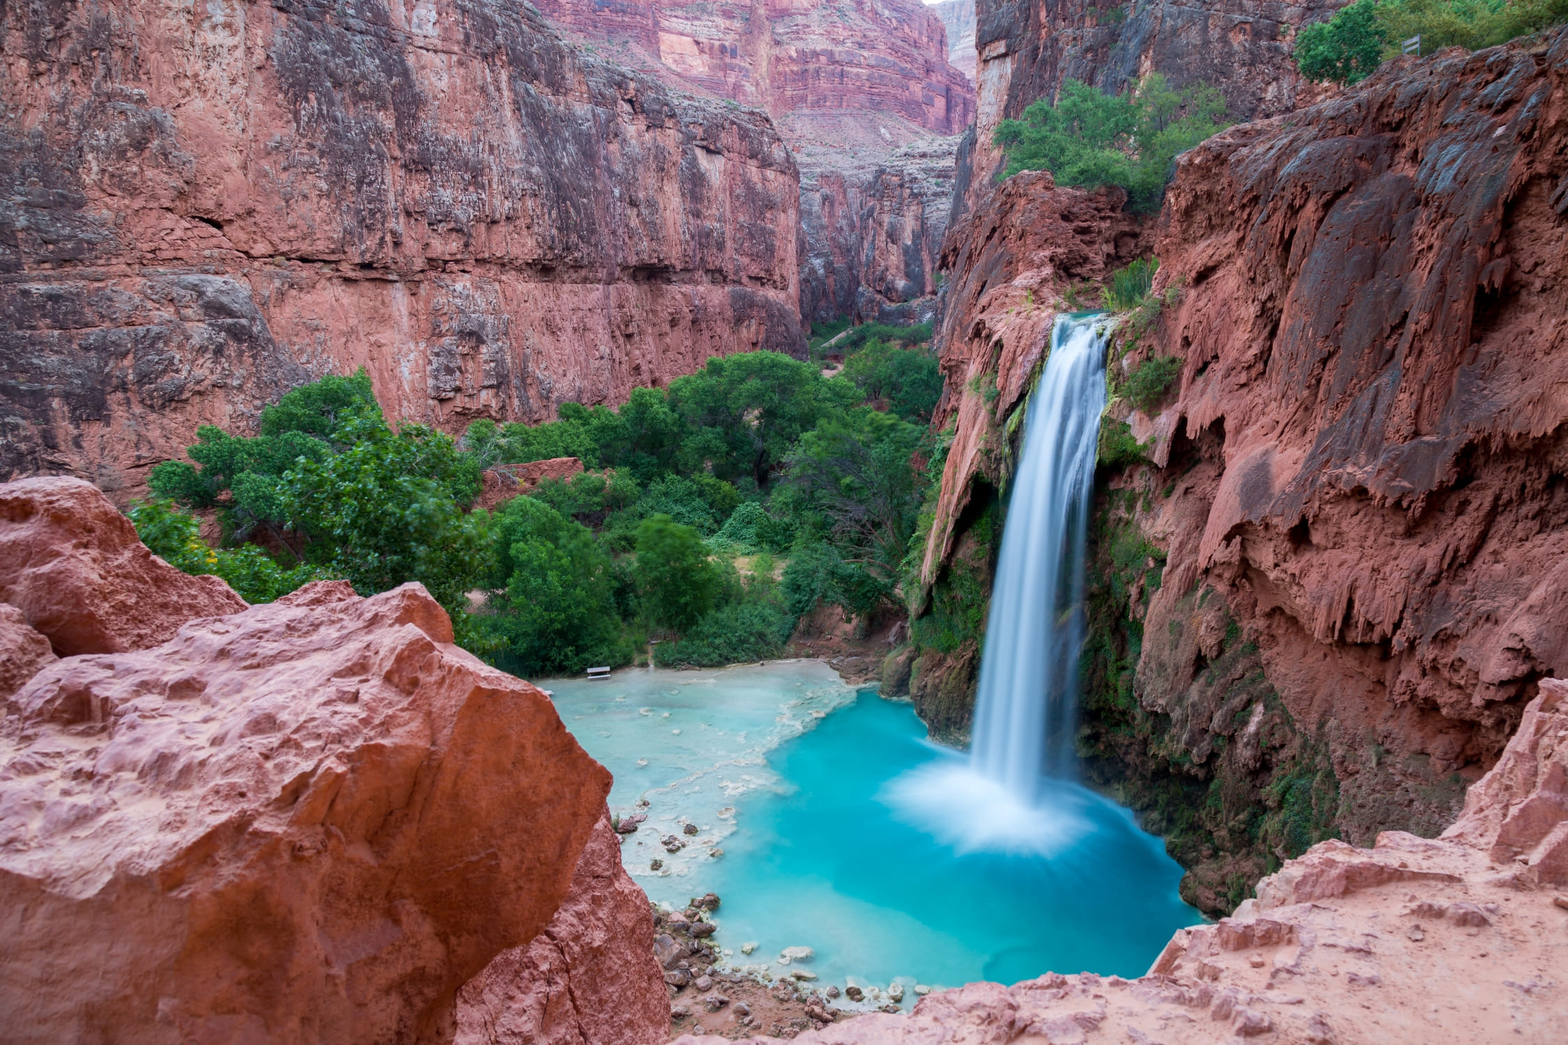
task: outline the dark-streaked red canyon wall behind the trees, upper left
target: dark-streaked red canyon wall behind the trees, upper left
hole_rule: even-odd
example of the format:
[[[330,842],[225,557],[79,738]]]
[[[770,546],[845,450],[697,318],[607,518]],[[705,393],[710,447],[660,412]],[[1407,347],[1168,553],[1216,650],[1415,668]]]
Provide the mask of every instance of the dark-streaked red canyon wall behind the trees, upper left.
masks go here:
[[[323,373],[461,428],[804,351],[760,113],[489,0],[11,5],[0,478],[135,490]],[[124,497],[124,495],[122,495]]]

